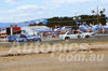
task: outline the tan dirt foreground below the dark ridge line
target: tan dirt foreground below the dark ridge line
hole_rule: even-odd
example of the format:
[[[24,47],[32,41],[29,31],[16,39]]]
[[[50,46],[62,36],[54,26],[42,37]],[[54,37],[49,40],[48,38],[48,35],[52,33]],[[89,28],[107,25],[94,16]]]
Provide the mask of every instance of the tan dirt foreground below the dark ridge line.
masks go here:
[[[108,51],[93,53],[104,54],[104,61],[59,61],[59,54],[54,57],[51,54],[0,57],[0,71],[108,71]]]

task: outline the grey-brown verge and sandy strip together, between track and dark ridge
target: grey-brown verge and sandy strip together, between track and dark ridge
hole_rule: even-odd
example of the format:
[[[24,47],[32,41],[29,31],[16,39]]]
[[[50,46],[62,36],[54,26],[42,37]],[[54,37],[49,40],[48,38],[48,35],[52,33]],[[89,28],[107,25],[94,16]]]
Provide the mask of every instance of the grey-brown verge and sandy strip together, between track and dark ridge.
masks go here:
[[[37,45],[38,43],[40,43],[40,46],[42,44],[49,44],[50,46],[56,45],[58,43],[60,43],[63,46],[64,44],[68,44],[69,46],[72,43],[78,44],[78,46],[73,47],[73,48],[64,48],[64,47],[58,47],[56,46],[56,49],[50,49],[48,51],[48,47],[42,47],[44,51],[41,51],[41,48],[39,47],[39,45]],[[80,48],[79,45],[86,43],[87,47],[85,48]],[[27,48],[26,51],[23,51],[23,45],[27,44],[30,45],[32,44],[31,47]],[[85,44],[85,45],[86,45]],[[71,52],[71,51],[95,51],[95,49],[108,49],[108,37],[105,38],[92,38],[92,39],[78,39],[78,40],[48,40],[48,41],[42,41],[42,42],[26,42],[26,43],[19,43],[19,48],[17,48],[16,46],[14,46],[15,49],[9,52],[10,48],[12,48],[13,43],[0,43],[0,56],[17,56],[17,55],[27,55],[27,54],[40,54],[40,53],[56,53],[56,52]],[[17,44],[16,44],[17,45]],[[28,47],[28,46],[27,46]],[[36,52],[35,49],[37,49],[38,47],[38,52]],[[17,52],[17,49],[19,52]],[[30,52],[28,49],[31,49]],[[45,52],[46,51],[46,52]]]

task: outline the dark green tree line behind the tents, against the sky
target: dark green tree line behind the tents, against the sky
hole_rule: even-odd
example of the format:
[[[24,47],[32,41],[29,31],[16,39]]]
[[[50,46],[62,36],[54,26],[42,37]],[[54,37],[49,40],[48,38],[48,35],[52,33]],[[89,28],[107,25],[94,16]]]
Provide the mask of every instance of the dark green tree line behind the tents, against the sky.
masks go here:
[[[81,20],[73,20],[73,17],[81,17]],[[73,17],[53,17],[49,18],[46,26],[53,27],[55,25],[59,26],[76,26],[76,22],[80,22],[81,24],[86,23],[86,24],[97,24],[97,15],[79,15],[79,16],[73,16]],[[102,25],[106,25],[106,15],[98,15],[98,20]]]

